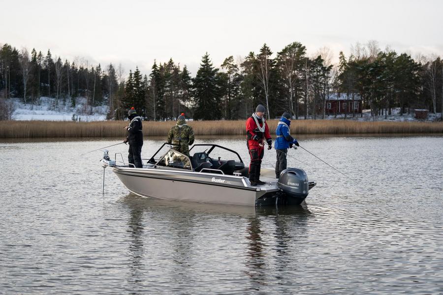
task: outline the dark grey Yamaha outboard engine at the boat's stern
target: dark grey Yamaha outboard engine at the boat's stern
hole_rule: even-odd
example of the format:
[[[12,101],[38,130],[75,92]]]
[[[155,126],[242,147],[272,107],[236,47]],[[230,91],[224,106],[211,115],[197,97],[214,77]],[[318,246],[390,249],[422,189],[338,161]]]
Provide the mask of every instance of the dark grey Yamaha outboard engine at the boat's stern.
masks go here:
[[[308,176],[303,169],[288,168],[280,173],[277,186],[285,193],[285,203],[300,204],[308,196]]]

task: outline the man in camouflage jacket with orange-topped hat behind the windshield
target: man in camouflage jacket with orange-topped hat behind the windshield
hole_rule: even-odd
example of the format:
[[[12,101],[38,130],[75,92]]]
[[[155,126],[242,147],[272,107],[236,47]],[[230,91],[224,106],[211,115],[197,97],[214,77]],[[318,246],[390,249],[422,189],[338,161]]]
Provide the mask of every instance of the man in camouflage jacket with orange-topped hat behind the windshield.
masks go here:
[[[173,148],[189,157],[189,146],[194,143],[194,130],[186,124],[184,113],[178,117],[177,124],[169,130],[168,144],[171,143],[180,145]]]

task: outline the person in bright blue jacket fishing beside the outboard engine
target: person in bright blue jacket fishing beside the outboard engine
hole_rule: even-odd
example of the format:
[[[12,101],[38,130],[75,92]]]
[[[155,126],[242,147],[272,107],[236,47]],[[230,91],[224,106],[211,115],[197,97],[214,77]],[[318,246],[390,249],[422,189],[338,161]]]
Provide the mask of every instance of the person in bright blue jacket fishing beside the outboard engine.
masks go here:
[[[291,124],[291,115],[287,112],[283,113],[280,119],[275,134],[277,138],[275,139],[274,148],[277,151],[277,162],[275,163],[275,177],[278,179],[280,173],[286,169],[286,154],[287,149],[292,148],[292,145],[296,145],[298,142],[295,138],[292,138],[289,126]]]

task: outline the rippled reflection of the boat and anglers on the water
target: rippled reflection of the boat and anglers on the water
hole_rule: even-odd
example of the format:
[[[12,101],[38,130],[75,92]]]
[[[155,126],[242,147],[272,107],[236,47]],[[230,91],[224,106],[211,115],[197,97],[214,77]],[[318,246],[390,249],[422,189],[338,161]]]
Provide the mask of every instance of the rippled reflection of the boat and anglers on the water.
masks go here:
[[[288,260],[297,260],[291,245],[306,236],[306,224],[314,216],[305,203],[247,207],[133,194],[121,202],[129,213],[128,282],[138,287],[146,284],[149,269],[170,272],[171,280],[184,283],[195,280],[209,264],[214,271],[230,268],[255,287],[266,284],[270,269],[278,275]]]

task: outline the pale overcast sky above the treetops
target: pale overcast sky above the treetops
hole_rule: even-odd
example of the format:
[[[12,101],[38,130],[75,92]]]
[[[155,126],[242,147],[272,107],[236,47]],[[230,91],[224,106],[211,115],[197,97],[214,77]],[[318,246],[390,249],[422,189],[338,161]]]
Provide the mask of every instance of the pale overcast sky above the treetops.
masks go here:
[[[228,56],[274,53],[299,41],[338,59],[356,42],[443,56],[442,0],[0,0],[0,44],[73,60],[136,65],[154,59],[188,65],[192,76],[208,52],[219,67]]]

